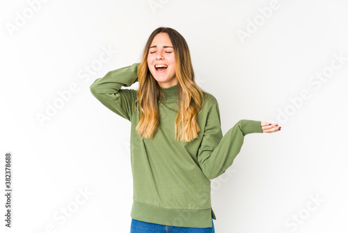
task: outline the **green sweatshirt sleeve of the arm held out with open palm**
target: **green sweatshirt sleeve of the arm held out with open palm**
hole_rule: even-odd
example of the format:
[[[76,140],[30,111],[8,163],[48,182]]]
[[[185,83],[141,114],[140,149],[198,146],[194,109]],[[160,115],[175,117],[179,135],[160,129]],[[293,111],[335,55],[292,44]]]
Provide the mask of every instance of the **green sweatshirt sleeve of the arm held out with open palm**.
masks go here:
[[[242,149],[244,136],[249,133],[262,133],[261,121],[240,120],[223,136],[219,104],[212,105],[198,149],[198,163],[208,179],[226,172]]]

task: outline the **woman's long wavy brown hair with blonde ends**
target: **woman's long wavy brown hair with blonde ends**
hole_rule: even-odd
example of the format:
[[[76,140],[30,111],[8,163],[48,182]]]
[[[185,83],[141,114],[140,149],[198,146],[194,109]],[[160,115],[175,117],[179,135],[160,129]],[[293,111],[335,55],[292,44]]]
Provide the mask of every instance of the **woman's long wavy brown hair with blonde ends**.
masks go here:
[[[139,97],[141,118],[136,131],[142,139],[152,138],[159,126],[158,101],[164,97],[157,80],[152,76],[148,68],[148,52],[152,40],[158,33],[167,33],[173,44],[175,54],[175,76],[177,77],[177,116],[175,118],[175,140],[191,142],[198,137],[200,128],[197,123],[198,112],[204,103],[203,91],[195,82],[193,66],[189,46],[184,37],[169,27],[159,27],[148,38],[143,50],[143,58],[138,66],[139,89],[136,92]]]

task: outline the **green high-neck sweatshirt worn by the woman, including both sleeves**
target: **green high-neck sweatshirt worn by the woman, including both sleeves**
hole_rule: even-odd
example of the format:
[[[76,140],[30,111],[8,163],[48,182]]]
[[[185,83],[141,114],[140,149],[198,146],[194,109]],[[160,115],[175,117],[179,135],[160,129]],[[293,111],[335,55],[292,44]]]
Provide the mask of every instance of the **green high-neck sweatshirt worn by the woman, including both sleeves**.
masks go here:
[[[219,105],[212,94],[204,92],[198,114],[198,138],[191,142],[175,140],[177,86],[162,88],[165,98],[158,101],[159,128],[152,139],[141,140],[135,128],[139,113],[138,98],[130,87],[138,82],[132,66],[109,71],[90,85],[90,91],[111,111],[131,125],[131,163],[133,205],[131,218],[148,223],[177,227],[212,227],[210,179],[223,174],[242,149],[244,136],[262,133],[261,121],[240,120],[223,136]],[[139,108],[139,102],[136,103]],[[122,132],[120,132],[122,133]]]

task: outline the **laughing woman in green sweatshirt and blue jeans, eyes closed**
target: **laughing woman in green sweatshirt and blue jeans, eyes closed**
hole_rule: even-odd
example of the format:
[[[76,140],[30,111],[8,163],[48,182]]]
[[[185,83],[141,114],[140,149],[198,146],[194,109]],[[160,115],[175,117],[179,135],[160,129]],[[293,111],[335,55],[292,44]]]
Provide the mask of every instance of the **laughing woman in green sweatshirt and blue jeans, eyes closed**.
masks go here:
[[[139,89],[121,89],[139,82]],[[210,179],[225,172],[245,135],[277,123],[240,120],[222,135],[219,104],[194,80],[189,47],[171,28],[152,32],[140,63],[91,84],[100,102],[131,121],[131,232],[214,232]]]

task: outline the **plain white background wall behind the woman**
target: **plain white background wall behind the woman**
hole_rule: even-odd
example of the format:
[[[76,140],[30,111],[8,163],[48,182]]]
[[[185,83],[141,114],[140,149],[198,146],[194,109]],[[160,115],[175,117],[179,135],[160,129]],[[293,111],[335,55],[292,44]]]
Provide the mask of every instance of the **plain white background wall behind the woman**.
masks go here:
[[[129,232],[130,122],[89,87],[109,70],[139,62],[157,27],[186,38],[196,82],[219,101],[224,134],[239,119],[282,126],[247,135],[229,175],[212,180],[216,232],[347,232],[348,4],[275,3],[2,2],[1,193],[10,151],[13,225],[4,227],[2,194],[1,232]],[[269,6],[265,17],[260,8]],[[108,48],[114,52],[100,62]],[[59,93],[66,100],[59,102]],[[40,123],[38,115],[54,103],[61,107]]]

